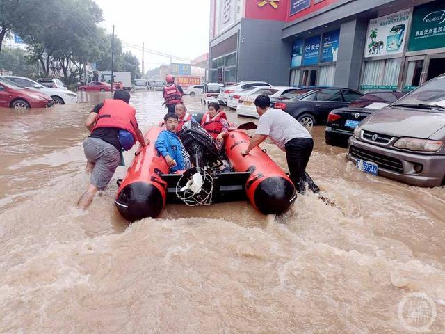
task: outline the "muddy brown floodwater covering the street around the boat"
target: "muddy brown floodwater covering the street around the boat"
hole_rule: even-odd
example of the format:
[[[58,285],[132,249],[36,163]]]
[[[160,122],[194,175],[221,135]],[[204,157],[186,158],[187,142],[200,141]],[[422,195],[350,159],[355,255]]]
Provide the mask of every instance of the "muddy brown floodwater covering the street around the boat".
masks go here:
[[[248,202],[167,205],[128,225],[113,200],[136,146],[86,212],[75,205],[89,182],[83,120],[109,96],[0,109],[0,333],[410,333],[400,309],[416,292],[435,306],[428,333],[444,333],[444,186],[361,173],[315,127],[308,172],[334,207],[310,193],[277,218]],[[162,102],[132,93],[143,132]]]

